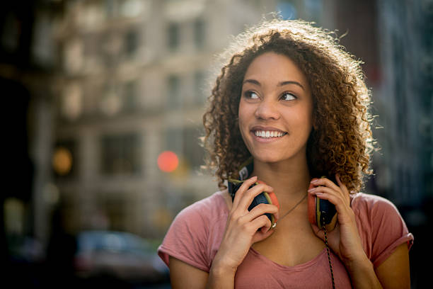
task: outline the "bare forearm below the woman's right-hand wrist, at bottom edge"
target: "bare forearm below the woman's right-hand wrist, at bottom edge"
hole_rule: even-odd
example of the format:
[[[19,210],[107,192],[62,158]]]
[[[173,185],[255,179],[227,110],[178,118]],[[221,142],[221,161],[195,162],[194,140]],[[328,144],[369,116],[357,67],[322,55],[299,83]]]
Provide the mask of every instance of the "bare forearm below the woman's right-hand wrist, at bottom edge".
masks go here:
[[[356,289],[383,289],[376,276],[373,264],[364,256],[360,261],[347,263],[346,269],[352,280],[352,287]]]

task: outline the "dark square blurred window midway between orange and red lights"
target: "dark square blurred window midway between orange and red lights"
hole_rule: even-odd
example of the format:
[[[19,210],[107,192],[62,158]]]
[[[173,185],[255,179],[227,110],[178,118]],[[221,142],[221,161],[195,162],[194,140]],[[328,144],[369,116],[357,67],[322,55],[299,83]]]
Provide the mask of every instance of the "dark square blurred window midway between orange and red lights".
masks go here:
[[[107,135],[101,140],[101,171],[105,175],[131,175],[140,171],[139,138],[135,134]]]

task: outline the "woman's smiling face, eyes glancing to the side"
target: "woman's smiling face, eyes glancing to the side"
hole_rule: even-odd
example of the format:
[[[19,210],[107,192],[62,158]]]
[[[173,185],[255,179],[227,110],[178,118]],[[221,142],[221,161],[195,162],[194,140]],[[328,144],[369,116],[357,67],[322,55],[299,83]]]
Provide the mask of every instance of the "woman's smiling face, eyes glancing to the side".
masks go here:
[[[289,57],[266,52],[251,62],[238,116],[243,141],[255,159],[305,158],[312,113],[308,80]]]

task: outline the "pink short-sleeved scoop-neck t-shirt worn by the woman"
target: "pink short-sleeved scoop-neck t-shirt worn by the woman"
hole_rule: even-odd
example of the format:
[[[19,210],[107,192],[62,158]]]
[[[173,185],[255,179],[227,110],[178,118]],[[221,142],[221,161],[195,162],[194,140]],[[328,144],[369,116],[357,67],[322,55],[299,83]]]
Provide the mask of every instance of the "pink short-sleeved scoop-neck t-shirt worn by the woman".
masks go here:
[[[375,267],[405,242],[412,246],[408,232],[393,203],[379,196],[357,193],[352,210],[366,255]],[[209,272],[226,227],[229,209],[220,192],[182,210],[168,229],[158,254],[168,266],[169,256]],[[350,277],[331,251],[336,288],[350,288]],[[326,249],[314,259],[296,266],[282,266],[250,248],[235,277],[236,288],[331,288]]]

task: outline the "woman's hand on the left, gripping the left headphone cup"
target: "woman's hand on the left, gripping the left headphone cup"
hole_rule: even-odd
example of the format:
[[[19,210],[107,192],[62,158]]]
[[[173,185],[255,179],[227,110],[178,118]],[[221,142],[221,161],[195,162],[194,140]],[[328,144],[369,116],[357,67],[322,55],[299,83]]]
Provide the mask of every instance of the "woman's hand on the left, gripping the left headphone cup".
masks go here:
[[[253,176],[244,181],[236,192],[227,219],[226,230],[218,253],[212,262],[212,267],[218,266],[220,270],[224,268],[224,271],[235,272],[246,254],[248,254],[250,246],[255,242],[266,239],[274,232],[269,218],[264,214],[275,214],[278,218],[276,205],[262,203],[248,211],[248,207],[255,196],[258,196],[263,191],[269,193],[273,191],[272,187],[264,183],[259,183],[248,189],[256,181],[257,176]]]

